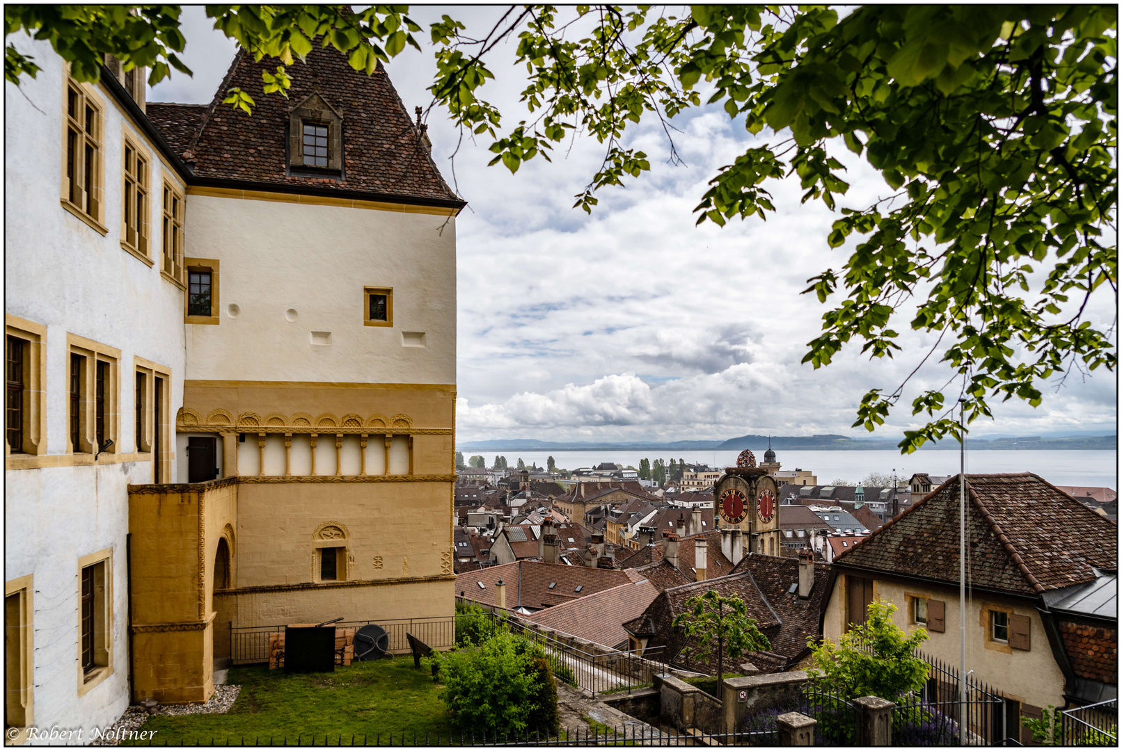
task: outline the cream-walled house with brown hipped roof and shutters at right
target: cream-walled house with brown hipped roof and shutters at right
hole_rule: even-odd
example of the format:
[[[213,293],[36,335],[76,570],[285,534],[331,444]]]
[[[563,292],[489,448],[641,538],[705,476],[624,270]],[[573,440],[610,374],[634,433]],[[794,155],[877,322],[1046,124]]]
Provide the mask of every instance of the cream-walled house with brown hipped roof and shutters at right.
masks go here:
[[[967,669],[1022,716],[1115,697],[1116,522],[1031,473],[971,474],[965,491]],[[883,600],[957,664],[959,565],[956,475],[835,558],[825,636]]]

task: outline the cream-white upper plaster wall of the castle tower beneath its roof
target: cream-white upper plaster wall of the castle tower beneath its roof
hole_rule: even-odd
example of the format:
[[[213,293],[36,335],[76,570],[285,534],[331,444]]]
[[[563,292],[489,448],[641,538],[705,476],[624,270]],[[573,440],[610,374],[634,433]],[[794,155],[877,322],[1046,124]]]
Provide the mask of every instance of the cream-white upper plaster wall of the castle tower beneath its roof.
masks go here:
[[[188,195],[186,248],[221,262],[222,312],[187,326],[188,379],[456,382],[454,219]],[[365,286],[394,288],[393,327],[364,325]]]

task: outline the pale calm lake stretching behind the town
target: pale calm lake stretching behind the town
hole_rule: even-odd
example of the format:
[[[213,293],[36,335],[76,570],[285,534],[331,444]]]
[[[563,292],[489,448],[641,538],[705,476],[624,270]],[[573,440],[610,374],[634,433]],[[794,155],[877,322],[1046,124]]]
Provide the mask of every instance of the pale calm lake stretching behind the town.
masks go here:
[[[473,452],[479,453],[479,452]],[[521,458],[527,465],[545,466],[545,460],[553,456],[557,465],[564,470],[596,466],[601,462],[614,462],[638,469],[640,460],[683,458],[691,464],[708,464],[715,469],[736,464],[736,451],[502,451],[507,464],[515,466]],[[755,452],[756,461],[763,461],[763,452]],[[470,454],[465,454],[465,460]],[[494,453],[484,455],[487,465],[495,461]],[[782,451],[776,460],[784,470],[810,470],[818,476],[819,484],[833,480],[848,480],[856,483],[870,472],[891,474],[893,471],[904,480],[916,472],[928,474],[957,474],[957,451],[919,451],[908,456],[895,451]],[[1089,485],[1094,488],[1118,488],[1118,453],[1113,451],[967,451],[966,473],[991,472],[1036,472],[1055,485]]]

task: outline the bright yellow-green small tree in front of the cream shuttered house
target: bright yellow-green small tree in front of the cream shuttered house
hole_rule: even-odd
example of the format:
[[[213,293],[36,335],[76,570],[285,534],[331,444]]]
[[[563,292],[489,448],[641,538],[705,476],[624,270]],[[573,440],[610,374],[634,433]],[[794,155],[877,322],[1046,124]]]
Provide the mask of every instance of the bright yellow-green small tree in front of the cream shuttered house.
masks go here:
[[[927,641],[922,628],[904,633],[892,622],[896,606],[876,600],[868,604],[864,623],[854,624],[842,634],[838,643],[824,639],[808,641],[813,659],[811,677],[822,680],[847,698],[880,696],[891,702],[918,692],[927,680],[928,666],[916,656]]]

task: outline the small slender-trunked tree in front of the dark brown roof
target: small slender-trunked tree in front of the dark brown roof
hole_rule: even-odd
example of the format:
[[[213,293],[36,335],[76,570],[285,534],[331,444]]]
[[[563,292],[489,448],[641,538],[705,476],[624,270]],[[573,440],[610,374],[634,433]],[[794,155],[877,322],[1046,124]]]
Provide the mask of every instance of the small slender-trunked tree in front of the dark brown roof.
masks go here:
[[[686,601],[689,611],[679,613],[672,623],[674,631],[686,637],[697,637],[696,646],[687,646],[683,652],[687,657],[701,652],[700,659],[706,665],[712,655],[711,646],[717,642],[717,686],[720,687],[721,674],[725,670],[725,652],[733,659],[745,652],[760,652],[771,649],[767,637],[756,628],[756,620],[748,616],[744,601],[733,595],[723,597],[715,590],[699,594]]]

